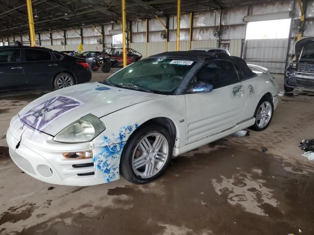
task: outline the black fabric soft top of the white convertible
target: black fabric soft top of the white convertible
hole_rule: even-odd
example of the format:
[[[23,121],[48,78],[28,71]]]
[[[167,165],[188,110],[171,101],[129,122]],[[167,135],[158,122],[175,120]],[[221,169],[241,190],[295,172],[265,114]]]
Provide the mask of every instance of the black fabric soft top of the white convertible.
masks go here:
[[[153,55],[151,57],[159,57],[159,56],[167,56],[167,57],[180,57],[182,59],[197,59],[197,60],[212,60],[212,59],[225,59],[232,61],[236,66],[238,66],[248,77],[254,76],[254,73],[246,64],[246,62],[237,56],[230,56],[226,53],[214,53],[207,52],[202,50],[188,50],[188,51],[169,51],[163,52],[157,55]]]

